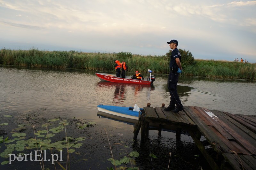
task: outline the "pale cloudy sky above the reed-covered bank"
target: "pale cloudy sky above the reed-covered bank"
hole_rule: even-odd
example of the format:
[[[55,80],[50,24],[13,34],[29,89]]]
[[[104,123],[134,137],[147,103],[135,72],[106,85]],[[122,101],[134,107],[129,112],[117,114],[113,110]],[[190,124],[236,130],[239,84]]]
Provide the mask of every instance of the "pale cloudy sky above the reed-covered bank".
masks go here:
[[[256,62],[256,1],[0,0],[0,48]]]

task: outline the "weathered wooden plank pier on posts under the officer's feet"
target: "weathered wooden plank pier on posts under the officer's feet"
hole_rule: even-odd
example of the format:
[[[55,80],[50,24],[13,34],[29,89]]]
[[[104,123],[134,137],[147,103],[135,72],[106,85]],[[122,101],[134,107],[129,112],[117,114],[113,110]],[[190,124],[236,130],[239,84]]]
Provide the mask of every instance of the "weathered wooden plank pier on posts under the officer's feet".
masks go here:
[[[173,113],[164,111],[164,104],[155,108],[147,104],[134,126],[133,139],[140,131],[143,142],[148,138],[148,130],[158,130],[161,135],[163,128],[176,130],[176,139],[180,138],[181,129],[186,130],[214,170],[256,170],[256,115],[231,114],[196,106],[185,106],[184,111]],[[202,135],[215,154],[206,151],[200,141]]]

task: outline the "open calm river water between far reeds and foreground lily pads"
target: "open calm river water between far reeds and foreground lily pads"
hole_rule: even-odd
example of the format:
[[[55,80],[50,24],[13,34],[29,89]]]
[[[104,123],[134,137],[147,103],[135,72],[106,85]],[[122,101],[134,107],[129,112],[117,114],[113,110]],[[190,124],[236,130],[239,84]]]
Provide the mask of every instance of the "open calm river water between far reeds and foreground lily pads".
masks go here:
[[[7,113],[62,108],[71,110],[75,117],[96,121],[98,104],[168,105],[167,75],[155,76],[154,85],[145,86],[100,81],[94,72],[85,70],[0,67],[0,110]],[[255,115],[255,85],[252,81],[180,77],[178,93],[183,105]]]

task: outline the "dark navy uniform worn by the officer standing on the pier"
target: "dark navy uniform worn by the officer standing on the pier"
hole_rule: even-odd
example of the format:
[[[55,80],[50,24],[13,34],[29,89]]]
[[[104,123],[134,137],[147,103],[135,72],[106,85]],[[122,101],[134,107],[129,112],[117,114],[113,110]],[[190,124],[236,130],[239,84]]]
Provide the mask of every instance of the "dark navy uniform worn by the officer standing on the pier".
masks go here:
[[[172,50],[172,55],[171,55],[171,61],[170,61],[170,74],[168,77],[168,89],[171,95],[171,101],[170,101],[170,106],[173,106],[176,104],[177,108],[183,107],[181,102],[180,102],[180,97],[177,93],[177,83],[179,79],[179,73],[178,71],[178,65],[176,64],[175,58],[179,58],[181,61],[181,54],[180,51],[175,48]]]

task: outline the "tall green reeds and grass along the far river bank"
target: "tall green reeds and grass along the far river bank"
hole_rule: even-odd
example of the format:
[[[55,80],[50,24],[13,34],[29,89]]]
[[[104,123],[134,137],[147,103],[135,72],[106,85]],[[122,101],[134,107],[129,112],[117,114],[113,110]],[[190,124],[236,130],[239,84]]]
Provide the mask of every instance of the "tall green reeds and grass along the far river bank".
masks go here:
[[[118,55],[36,49],[0,50],[0,64],[13,66],[114,71],[115,60],[125,61],[129,72],[139,70],[143,73],[151,69],[153,73],[169,73],[170,59],[166,56],[142,56],[123,52]],[[182,75],[256,80],[255,72],[256,64],[198,59],[194,65],[186,66]]]

